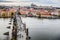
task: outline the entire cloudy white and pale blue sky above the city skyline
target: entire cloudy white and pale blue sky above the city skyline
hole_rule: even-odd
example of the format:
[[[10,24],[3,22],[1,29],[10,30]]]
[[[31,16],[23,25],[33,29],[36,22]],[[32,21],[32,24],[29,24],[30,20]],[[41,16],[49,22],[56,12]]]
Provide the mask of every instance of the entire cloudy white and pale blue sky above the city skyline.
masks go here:
[[[32,3],[38,6],[60,7],[60,0],[0,0],[0,4],[29,6]]]

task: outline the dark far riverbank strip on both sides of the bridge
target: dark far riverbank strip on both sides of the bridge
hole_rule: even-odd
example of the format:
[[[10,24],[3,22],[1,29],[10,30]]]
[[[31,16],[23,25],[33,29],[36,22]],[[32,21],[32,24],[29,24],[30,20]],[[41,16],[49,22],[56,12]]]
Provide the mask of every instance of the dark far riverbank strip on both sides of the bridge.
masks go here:
[[[50,17],[40,17],[40,16],[27,16],[20,15],[21,17],[31,17],[31,18],[39,18],[39,19],[60,19],[58,16],[50,16]],[[12,16],[0,16],[0,18],[13,18]]]

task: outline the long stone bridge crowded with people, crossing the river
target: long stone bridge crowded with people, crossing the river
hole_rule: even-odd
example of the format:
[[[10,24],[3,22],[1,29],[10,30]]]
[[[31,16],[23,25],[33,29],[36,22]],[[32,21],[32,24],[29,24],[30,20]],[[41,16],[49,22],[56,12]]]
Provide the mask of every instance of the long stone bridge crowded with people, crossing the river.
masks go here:
[[[16,14],[13,17],[12,39],[11,40],[29,40],[28,28],[22,22],[21,16]]]

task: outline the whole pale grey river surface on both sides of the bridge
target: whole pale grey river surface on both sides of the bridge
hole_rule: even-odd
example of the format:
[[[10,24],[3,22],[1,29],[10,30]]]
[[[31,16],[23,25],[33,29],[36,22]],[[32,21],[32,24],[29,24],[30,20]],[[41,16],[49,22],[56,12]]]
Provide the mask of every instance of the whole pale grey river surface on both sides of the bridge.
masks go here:
[[[26,23],[26,27],[29,29],[30,40],[60,40],[60,19],[22,17],[22,21]],[[3,35],[4,32],[11,32],[11,29],[6,28],[12,27],[9,22],[10,18],[0,18],[0,40],[7,37]]]

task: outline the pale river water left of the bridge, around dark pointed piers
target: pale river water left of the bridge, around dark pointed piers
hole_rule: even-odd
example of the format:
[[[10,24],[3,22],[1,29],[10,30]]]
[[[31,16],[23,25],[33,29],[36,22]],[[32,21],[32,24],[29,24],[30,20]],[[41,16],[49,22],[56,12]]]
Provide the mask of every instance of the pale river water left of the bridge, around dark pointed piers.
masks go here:
[[[4,35],[4,33],[9,32],[11,33],[12,30],[12,24],[13,22],[10,22],[10,18],[0,18],[0,40],[7,40],[7,35]],[[11,23],[11,25],[9,24]],[[7,27],[11,26],[11,29],[8,29]],[[11,35],[9,35],[11,38]]]

